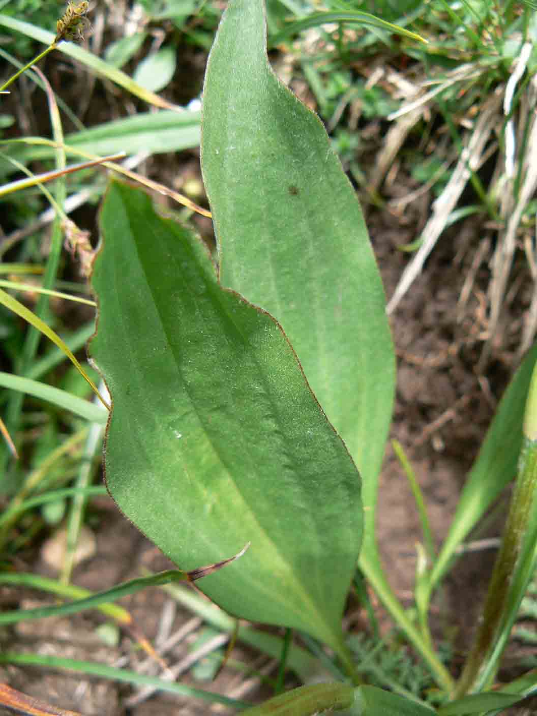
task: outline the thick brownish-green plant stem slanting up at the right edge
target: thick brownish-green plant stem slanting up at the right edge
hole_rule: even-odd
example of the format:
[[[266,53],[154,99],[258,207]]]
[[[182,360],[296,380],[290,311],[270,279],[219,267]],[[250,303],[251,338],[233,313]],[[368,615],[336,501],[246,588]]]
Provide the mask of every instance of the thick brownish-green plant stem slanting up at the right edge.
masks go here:
[[[508,608],[511,581],[526,537],[536,488],[537,440],[525,437],[516,488],[485,600],[483,621],[455,688],[455,697],[475,691],[480,673],[487,666],[488,658],[494,650]]]

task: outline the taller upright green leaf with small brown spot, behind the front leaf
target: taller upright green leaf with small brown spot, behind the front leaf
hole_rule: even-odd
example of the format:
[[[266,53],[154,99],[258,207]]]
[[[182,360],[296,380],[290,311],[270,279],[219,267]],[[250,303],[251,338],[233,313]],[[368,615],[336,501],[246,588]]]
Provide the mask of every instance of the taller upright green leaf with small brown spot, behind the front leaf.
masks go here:
[[[395,382],[384,291],[319,117],[269,66],[263,0],[228,4],[205,76],[201,147],[221,283],[283,326],[362,473],[364,550],[374,550]]]

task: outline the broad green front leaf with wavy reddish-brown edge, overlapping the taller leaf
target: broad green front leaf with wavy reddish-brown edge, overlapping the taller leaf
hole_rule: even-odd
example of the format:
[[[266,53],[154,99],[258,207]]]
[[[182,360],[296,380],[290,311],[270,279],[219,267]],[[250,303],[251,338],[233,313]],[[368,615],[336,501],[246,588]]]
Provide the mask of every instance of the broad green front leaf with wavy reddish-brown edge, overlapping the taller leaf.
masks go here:
[[[113,409],[107,487],[181,569],[251,547],[200,588],[340,655],[359,475],[276,321],[224,291],[200,242],[112,183],[91,352]]]

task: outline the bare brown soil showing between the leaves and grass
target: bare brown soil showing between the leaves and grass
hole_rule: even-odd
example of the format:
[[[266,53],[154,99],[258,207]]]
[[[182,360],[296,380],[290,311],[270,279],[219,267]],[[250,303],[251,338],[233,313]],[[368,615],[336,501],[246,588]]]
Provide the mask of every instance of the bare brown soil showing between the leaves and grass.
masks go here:
[[[59,71],[62,71],[60,67]],[[54,72],[49,74],[54,78]],[[73,103],[71,102],[72,106]],[[95,105],[92,113],[95,113]],[[98,113],[97,113],[98,114]],[[99,117],[102,121],[104,117]],[[34,127],[27,133],[37,134]],[[166,183],[163,166],[168,158],[150,160],[156,178]],[[170,175],[196,174],[196,153],[181,153],[175,158],[175,170]],[[159,170],[160,167],[160,170]],[[177,183],[175,183],[177,187]],[[405,176],[392,185],[394,193],[405,193],[413,188]],[[390,197],[387,197],[390,198]],[[422,225],[427,214],[427,203],[407,208],[405,216],[380,212],[364,202],[374,250],[390,296],[407,263],[407,254],[397,246],[415,239],[416,227]],[[80,221],[80,216],[78,220]],[[87,219],[95,226],[95,218]],[[207,224],[199,224],[205,233]],[[467,267],[470,265],[480,239],[480,227],[471,221],[453,228],[440,239],[427,261],[425,271],[408,292],[392,316],[392,329],[397,347],[398,382],[395,419],[392,437],[396,437],[407,451],[427,501],[435,537],[440,543],[448,531],[455,511],[458,494],[465,473],[477,454],[480,441],[493,416],[495,405],[514,369],[513,342],[508,339],[493,354],[488,369],[482,375],[475,372],[480,355],[480,332],[483,331],[483,292],[488,282],[488,266],[480,266],[470,302],[461,318],[458,316],[458,299]],[[516,271],[524,279],[524,266]],[[522,292],[515,314],[505,316],[506,331],[518,320],[526,307],[527,296]],[[518,313],[517,313],[518,311]],[[509,334],[511,335],[511,334]],[[110,500],[95,500],[92,508],[99,518],[97,553],[84,562],[74,573],[74,583],[89,589],[101,590],[140,574],[142,567],[166,569],[168,563],[158,550],[140,536],[116,510]],[[505,513],[500,505],[498,517],[488,527],[485,536],[498,536]],[[404,604],[410,605],[415,571],[415,543],[420,541],[420,525],[407,480],[395,460],[392,449],[387,448],[381,477],[379,498],[378,538],[387,564],[392,586]],[[476,608],[483,596],[493,562],[493,552],[478,552],[466,556],[450,575],[445,589],[445,611],[435,604],[437,637],[452,637],[461,649],[475,625]],[[21,569],[35,569],[53,576],[49,568],[35,555],[25,555]],[[31,606],[39,602],[35,594],[0,589],[0,603],[5,608]],[[147,590],[123,601],[132,612],[136,624],[150,639],[158,633],[159,624],[170,600],[157,589]],[[382,616],[382,625],[387,620]],[[182,627],[191,615],[177,609],[170,632]],[[118,647],[105,647],[95,634],[95,626],[102,619],[95,614],[73,616],[69,619],[47,619],[22,623],[14,630],[3,631],[0,639],[4,647],[28,649],[42,654],[62,654],[78,659],[118,663],[134,668],[140,652],[124,636]],[[188,653],[185,639],[175,649],[170,662],[180,660]],[[238,647],[233,654],[238,659],[253,663],[257,657]],[[266,661],[261,662],[261,666]],[[211,688],[229,694],[236,676],[225,669],[214,684],[199,684],[187,675],[183,680],[200,688]],[[125,713],[123,702],[130,695],[127,685],[110,684],[96,679],[82,679],[71,675],[46,672],[44,669],[0,669],[0,681],[51,704],[79,710],[88,716],[116,716]],[[254,683],[243,697],[258,699],[261,691]],[[195,703],[158,695],[128,711],[132,716],[188,715],[210,712],[203,703]]]

